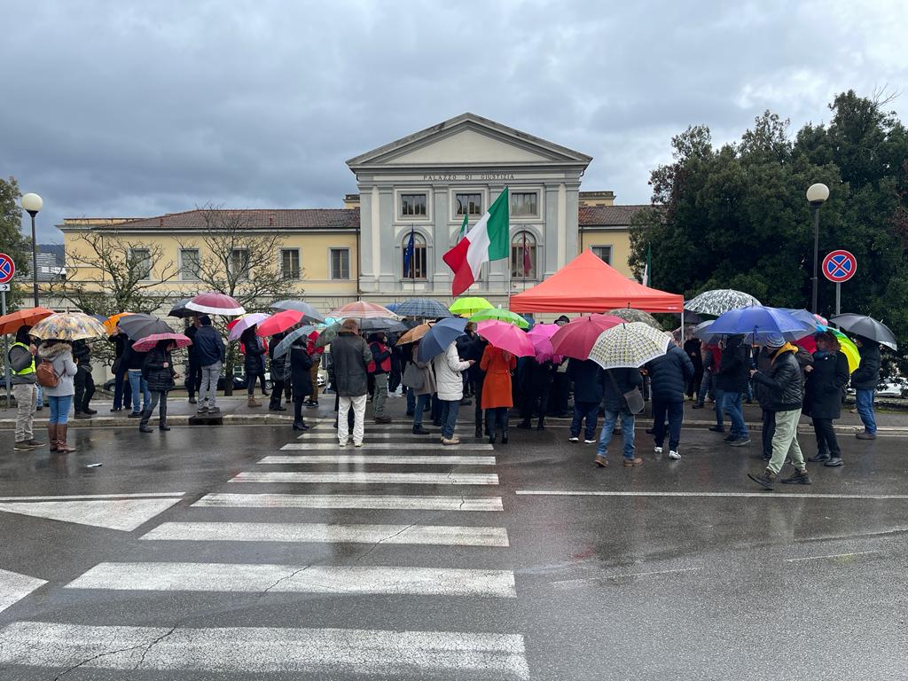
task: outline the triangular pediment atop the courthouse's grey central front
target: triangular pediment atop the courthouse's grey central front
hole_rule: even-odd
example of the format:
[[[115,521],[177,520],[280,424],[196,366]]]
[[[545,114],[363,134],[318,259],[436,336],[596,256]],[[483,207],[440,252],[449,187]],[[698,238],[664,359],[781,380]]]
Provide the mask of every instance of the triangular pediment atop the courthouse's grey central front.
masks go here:
[[[385,144],[350,159],[351,169],[367,166],[450,167],[452,165],[586,166],[592,157],[522,133],[475,114],[449,121]]]

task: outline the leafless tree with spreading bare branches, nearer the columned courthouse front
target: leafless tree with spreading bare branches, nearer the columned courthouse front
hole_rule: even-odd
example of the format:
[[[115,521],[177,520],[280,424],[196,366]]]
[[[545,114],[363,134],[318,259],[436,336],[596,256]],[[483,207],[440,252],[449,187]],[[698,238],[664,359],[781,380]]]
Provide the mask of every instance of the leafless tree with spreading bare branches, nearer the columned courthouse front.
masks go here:
[[[265,311],[282,298],[301,296],[278,262],[283,238],[273,227],[254,225],[248,212],[222,210],[207,205],[200,209],[204,220],[198,241],[180,242],[182,249],[199,252],[196,275],[203,289],[226,293],[246,311]],[[302,273],[300,273],[302,276]],[[225,321],[219,320],[225,332]],[[224,361],[225,389],[233,389],[233,365],[239,359],[236,344],[230,344]]]

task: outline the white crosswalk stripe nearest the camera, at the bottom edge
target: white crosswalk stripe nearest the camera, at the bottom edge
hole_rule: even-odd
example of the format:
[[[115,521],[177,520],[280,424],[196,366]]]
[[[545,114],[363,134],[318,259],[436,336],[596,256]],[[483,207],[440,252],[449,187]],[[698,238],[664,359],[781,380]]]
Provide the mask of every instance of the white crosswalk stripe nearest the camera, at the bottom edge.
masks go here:
[[[87,661],[86,661],[87,660]],[[527,679],[517,634],[276,627],[90,627],[15,622],[0,629],[0,664],[209,674],[316,673]],[[12,673],[12,672],[10,672]]]

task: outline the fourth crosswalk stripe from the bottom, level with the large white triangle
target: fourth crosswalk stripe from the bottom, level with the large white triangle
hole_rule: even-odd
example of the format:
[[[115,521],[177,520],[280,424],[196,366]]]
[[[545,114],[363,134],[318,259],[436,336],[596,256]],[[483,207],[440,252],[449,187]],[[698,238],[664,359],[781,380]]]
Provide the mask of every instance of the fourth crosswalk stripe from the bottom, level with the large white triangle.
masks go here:
[[[372,508],[375,510],[503,510],[500,497],[435,497],[367,494],[207,494],[202,508]]]

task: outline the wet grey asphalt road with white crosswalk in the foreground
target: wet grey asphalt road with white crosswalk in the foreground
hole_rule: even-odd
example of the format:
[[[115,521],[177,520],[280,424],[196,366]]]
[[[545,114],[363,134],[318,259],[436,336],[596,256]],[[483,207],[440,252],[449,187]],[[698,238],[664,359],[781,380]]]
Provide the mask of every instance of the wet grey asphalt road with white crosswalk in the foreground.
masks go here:
[[[686,429],[684,459],[668,461],[641,424],[645,465],[612,454],[596,469],[565,425],[511,429],[491,450],[394,426],[370,438],[370,426],[367,448],[341,452],[330,421],[303,439],[289,427],[92,429],[68,457],[5,448],[0,597],[22,585],[4,574],[47,584],[0,611],[0,678],[908,676],[908,439],[842,437],[844,468],[812,467],[813,486],[770,495],[745,477],[760,469],[756,447]],[[367,460],[304,460],[339,453]],[[439,455],[480,459],[395,459]],[[281,472],[361,475],[248,478]],[[461,474],[499,484],[449,484]],[[552,494],[565,491],[577,494]],[[86,519],[102,502],[102,524],[135,527],[23,515],[47,507],[10,500],[61,496],[89,505],[52,502],[57,516]],[[390,508],[417,498],[449,506]],[[166,508],[127,508],[135,499]],[[329,508],[344,504],[373,508]]]

